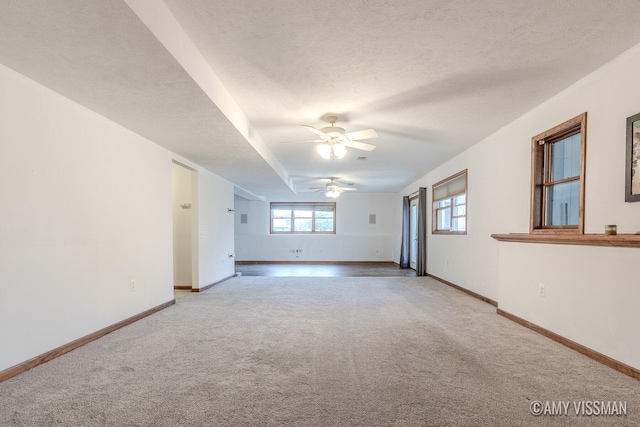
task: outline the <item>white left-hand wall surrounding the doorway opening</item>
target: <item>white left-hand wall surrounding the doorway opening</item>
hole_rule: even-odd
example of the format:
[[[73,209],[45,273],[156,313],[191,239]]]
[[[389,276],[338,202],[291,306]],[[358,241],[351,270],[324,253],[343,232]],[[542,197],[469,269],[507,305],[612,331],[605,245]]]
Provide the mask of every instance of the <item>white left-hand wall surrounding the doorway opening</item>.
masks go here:
[[[173,299],[171,165],[188,162],[3,66],[0,93],[1,371]],[[233,187],[189,166],[208,284],[233,274]]]

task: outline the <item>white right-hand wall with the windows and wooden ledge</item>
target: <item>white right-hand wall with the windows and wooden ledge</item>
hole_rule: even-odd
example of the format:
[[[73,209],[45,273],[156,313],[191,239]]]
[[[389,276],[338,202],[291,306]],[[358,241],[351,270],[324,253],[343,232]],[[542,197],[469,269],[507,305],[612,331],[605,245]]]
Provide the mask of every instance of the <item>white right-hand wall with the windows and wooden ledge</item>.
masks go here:
[[[639,72],[640,45],[402,192],[430,190],[468,169],[468,234],[429,233],[428,272],[635,368],[640,295],[634,266],[640,249],[498,243],[490,235],[528,233],[531,137],[584,111],[585,233],[602,234],[605,224],[617,224],[619,233],[640,231],[640,203],[624,202],[625,122],[640,112]],[[544,298],[539,283],[547,286]]]

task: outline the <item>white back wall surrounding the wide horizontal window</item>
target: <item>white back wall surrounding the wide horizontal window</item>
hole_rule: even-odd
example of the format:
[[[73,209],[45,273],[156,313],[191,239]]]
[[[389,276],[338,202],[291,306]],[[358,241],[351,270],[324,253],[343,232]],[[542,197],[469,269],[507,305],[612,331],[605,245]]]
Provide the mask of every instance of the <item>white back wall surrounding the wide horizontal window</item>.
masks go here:
[[[349,192],[337,199],[301,194],[290,201],[335,201],[336,234],[282,235],[269,233],[269,202],[236,199],[235,244],[238,261],[396,261],[392,258],[397,210],[394,194]],[[240,223],[241,214],[247,224]],[[376,224],[369,224],[369,214]],[[302,252],[291,253],[301,249]]]

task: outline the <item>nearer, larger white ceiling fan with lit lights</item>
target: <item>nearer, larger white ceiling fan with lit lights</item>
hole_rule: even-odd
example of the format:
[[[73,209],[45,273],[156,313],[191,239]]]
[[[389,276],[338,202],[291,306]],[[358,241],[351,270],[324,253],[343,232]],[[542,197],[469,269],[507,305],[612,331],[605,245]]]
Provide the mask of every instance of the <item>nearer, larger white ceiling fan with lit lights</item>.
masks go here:
[[[376,146],[368,144],[366,142],[356,141],[356,139],[375,138],[378,136],[378,132],[375,129],[365,129],[356,132],[345,133],[344,128],[335,126],[335,122],[338,120],[338,116],[327,116],[327,121],[330,126],[323,127],[322,129],[316,129],[313,126],[303,125],[302,127],[309,129],[320,137],[320,139],[312,139],[307,141],[284,141],[283,143],[292,142],[322,142],[318,145],[318,153],[324,159],[331,159],[337,157],[341,159],[347,154],[347,148],[356,148],[358,150],[373,151]]]

